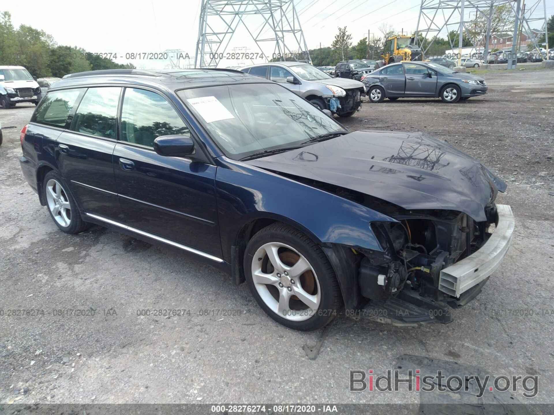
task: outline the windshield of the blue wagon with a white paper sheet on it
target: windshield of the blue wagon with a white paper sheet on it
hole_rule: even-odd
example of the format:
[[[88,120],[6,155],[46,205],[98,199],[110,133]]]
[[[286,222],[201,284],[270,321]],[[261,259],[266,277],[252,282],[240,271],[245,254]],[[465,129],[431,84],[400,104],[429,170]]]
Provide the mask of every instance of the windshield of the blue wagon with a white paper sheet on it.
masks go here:
[[[298,146],[320,134],[345,131],[280,85],[209,86],[181,90],[177,95],[219,148],[235,160],[264,150]]]

